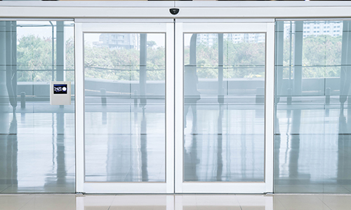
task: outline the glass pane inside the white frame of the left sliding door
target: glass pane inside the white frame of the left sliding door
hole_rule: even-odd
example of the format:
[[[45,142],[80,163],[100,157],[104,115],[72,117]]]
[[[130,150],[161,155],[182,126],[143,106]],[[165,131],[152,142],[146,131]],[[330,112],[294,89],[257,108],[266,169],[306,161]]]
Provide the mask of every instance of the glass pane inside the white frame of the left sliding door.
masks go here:
[[[165,34],[84,34],[85,181],[166,181]]]

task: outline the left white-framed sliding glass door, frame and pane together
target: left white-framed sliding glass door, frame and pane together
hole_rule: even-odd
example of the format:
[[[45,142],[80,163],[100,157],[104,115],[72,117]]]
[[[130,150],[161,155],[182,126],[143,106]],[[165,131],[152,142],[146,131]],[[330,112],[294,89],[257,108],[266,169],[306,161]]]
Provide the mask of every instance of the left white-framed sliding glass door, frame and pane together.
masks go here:
[[[82,22],[76,34],[77,191],[173,193],[173,24]]]

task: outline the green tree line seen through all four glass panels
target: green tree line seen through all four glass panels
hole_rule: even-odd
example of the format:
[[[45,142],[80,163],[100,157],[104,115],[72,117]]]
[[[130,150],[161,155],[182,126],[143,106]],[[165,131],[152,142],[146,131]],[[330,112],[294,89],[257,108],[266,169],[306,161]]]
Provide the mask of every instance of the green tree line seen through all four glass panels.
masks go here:
[[[56,43],[54,48],[56,49]],[[307,36],[303,39],[303,78],[340,76],[342,36]],[[190,64],[190,49],[184,49],[185,64]],[[218,42],[197,44],[197,76],[218,78]],[[284,77],[293,75],[294,43],[284,39]],[[55,69],[55,50],[51,38],[34,35],[18,38],[18,81],[48,82]],[[74,40],[65,42],[67,80],[74,80]],[[54,59],[52,60],[52,58]],[[165,48],[147,42],[147,80],[164,80]],[[140,50],[85,45],[86,78],[139,80]],[[143,66],[142,68],[143,69]],[[69,71],[72,70],[72,71]],[[55,71],[54,71],[55,72]],[[262,78],[265,72],[265,43],[223,43],[223,74],[225,78]]]

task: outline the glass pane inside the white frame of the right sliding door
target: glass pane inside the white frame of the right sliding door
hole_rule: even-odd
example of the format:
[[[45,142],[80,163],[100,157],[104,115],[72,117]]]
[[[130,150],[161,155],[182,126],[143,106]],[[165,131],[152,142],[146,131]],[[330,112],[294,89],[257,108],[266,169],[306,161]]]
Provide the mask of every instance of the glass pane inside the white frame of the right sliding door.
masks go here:
[[[265,34],[184,40],[184,181],[264,181]]]

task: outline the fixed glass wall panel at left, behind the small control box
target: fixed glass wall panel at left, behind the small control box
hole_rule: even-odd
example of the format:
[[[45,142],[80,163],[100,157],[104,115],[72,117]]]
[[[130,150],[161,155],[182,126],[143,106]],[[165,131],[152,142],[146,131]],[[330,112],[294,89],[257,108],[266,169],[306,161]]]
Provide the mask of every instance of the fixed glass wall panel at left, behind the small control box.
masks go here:
[[[72,81],[72,105],[49,83]],[[74,23],[0,21],[0,193],[74,193]]]

